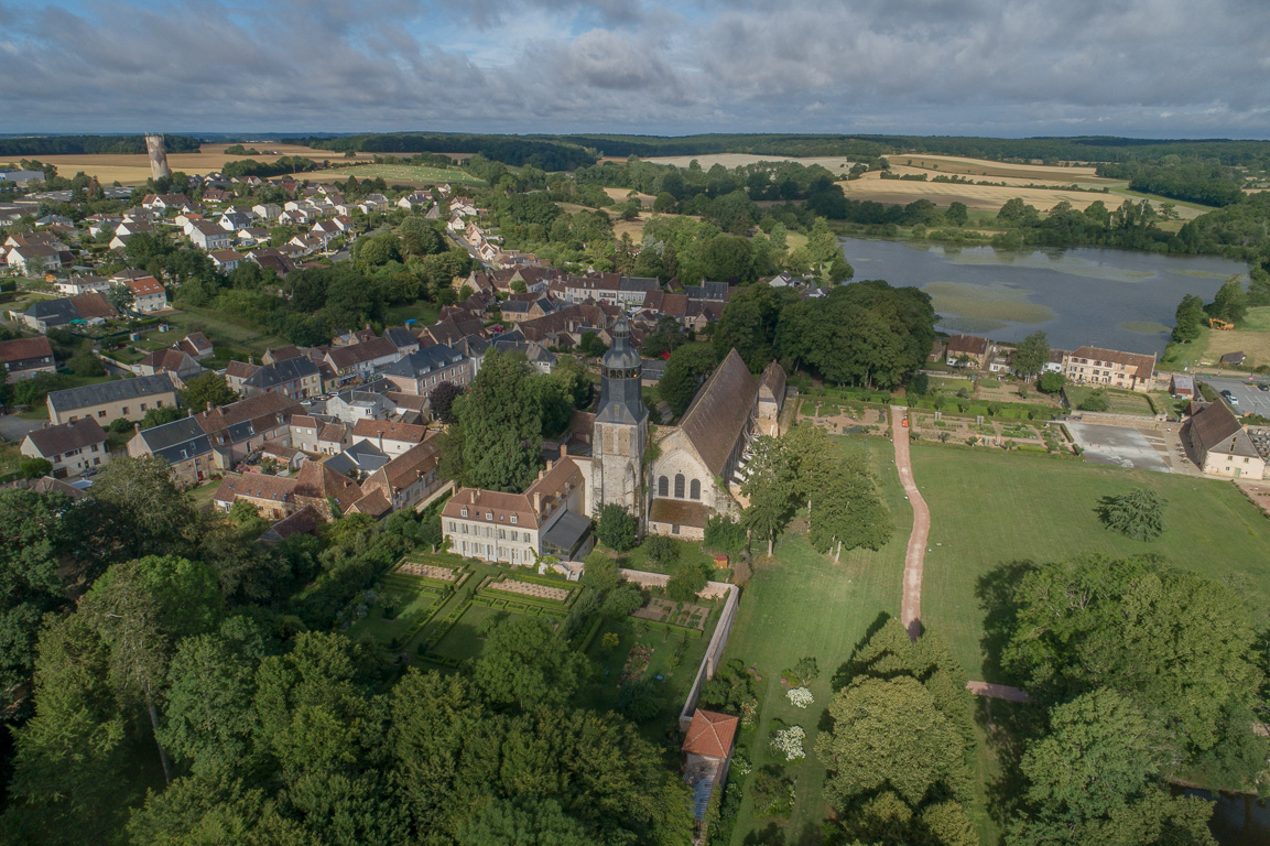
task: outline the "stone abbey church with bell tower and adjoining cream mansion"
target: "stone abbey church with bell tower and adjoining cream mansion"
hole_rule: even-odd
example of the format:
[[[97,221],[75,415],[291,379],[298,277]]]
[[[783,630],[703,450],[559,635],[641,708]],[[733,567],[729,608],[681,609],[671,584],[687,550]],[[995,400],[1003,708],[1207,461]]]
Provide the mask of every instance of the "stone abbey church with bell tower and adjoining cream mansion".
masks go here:
[[[591,550],[591,517],[620,504],[643,534],[705,537],[712,514],[737,514],[748,447],[780,434],[785,371],[754,376],[733,349],[697,390],[678,426],[649,433],[641,365],[620,318],[601,362],[591,455],[559,457],[522,494],[461,488],[441,512],[450,549],[488,561],[531,565],[542,555],[577,560]],[[587,415],[589,417],[589,415]]]

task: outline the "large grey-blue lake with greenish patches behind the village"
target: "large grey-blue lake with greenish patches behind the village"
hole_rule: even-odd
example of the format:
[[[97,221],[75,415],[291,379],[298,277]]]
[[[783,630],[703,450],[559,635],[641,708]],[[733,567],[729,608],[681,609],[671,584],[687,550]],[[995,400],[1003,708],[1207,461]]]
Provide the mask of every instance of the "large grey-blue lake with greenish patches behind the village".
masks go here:
[[[1213,299],[1248,267],[1212,255],[1091,248],[997,250],[841,238],[856,279],[886,279],[931,295],[941,332],[1022,340],[1041,329],[1052,347],[1082,344],[1163,353],[1186,293]]]

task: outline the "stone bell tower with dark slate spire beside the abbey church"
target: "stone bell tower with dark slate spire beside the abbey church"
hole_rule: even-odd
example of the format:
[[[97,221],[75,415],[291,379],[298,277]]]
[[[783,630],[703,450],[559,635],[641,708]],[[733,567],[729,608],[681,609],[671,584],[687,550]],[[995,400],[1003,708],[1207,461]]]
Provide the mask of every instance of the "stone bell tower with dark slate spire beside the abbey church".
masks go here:
[[[644,453],[648,409],[640,393],[640,358],[631,349],[624,314],[613,325],[613,346],[601,362],[599,410],[591,440],[592,502],[598,511],[618,503],[644,528]]]

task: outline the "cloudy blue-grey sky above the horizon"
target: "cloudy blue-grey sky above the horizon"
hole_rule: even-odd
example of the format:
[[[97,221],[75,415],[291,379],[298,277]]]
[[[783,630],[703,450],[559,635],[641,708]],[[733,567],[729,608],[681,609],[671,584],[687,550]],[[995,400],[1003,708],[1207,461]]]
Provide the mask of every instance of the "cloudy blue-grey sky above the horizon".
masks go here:
[[[1267,0],[0,0],[0,132],[1270,138]]]

